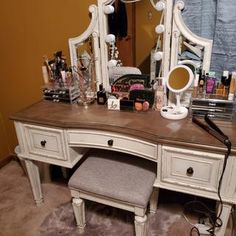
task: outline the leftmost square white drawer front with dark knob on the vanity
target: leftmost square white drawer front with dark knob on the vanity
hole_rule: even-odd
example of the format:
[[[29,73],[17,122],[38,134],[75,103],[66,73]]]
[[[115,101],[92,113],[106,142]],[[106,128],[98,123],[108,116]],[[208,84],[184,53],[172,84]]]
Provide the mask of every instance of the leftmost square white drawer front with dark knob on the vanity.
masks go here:
[[[24,125],[29,154],[66,160],[63,131],[40,126]]]

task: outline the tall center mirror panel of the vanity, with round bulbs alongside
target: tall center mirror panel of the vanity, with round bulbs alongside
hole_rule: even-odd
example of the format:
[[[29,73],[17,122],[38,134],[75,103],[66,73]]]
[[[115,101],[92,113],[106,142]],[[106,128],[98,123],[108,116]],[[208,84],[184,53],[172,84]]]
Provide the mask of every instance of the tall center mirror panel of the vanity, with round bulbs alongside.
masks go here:
[[[153,59],[157,42],[158,49],[162,48],[163,35],[160,34],[164,33],[155,31],[162,15],[161,11],[154,8],[159,1],[128,2],[98,0],[99,12],[103,11],[103,24],[100,24],[103,84],[108,91],[114,81],[125,74],[150,75],[151,70],[154,78],[161,66],[160,62]],[[104,11],[110,6],[114,12]],[[115,36],[114,42],[110,35]]]

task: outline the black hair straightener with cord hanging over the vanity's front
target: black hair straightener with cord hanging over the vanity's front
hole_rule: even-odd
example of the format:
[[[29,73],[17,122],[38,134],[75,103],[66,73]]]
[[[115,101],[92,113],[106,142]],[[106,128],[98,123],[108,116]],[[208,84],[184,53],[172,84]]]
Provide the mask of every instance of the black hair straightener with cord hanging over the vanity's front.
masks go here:
[[[210,133],[211,135],[213,135],[215,138],[217,138],[219,141],[221,141],[226,147],[227,147],[227,151],[225,153],[224,156],[224,163],[223,163],[223,168],[222,168],[222,172],[221,172],[221,176],[219,179],[219,184],[218,184],[218,189],[217,189],[217,195],[219,198],[219,206],[218,206],[218,214],[216,214],[215,212],[215,219],[212,219],[211,214],[208,213],[208,218],[210,220],[211,223],[211,227],[207,230],[211,236],[215,236],[215,229],[216,228],[220,228],[223,224],[221,217],[222,211],[223,211],[223,201],[222,201],[222,197],[221,197],[221,186],[222,186],[222,180],[223,180],[223,176],[225,173],[225,168],[227,166],[227,161],[228,161],[228,157],[231,153],[231,142],[228,138],[228,136],[226,136],[219,128],[217,125],[215,125],[214,122],[212,122],[210,120],[210,118],[205,115],[204,117],[205,121],[209,124],[210,127],[208,127],[207,125],[203,124],[202,122],[200,122],[199,120],[197,120],[195,117],[192,118],[192,121],[194,123],[196,123],[197,125],[199,125],[201,128],[203,128],[205,131],[207,131],[208,133]],[[210,210],[208,209],[208,212],[210,212]],[[198,213],[203,213],[203,212],[198,212]],[[193,227],[196,228],[196,227]],[[190,235],[192,235],[193,230],[191,230]],[[199,231],[197,232],[198,235],[200,235]]]

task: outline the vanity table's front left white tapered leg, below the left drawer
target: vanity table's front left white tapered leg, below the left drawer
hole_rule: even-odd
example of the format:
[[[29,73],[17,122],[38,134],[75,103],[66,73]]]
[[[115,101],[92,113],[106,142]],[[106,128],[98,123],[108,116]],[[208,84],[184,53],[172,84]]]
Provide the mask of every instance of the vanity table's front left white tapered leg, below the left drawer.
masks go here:
[[[27,159],[25,159],[25,165],[31,184],[31,189],[34,195],[35,203],[37,206],[40,206],[43,202],[43,195],[39,176],[39,168],[33,161]]]

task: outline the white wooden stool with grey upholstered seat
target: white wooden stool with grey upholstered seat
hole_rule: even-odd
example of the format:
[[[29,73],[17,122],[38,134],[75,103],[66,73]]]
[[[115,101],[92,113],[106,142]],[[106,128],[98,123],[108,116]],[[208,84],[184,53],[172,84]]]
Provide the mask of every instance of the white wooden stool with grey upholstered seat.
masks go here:
[[[69,180],[79,228],[85,227],[83,199],[134,212],[136,236],[146,235],[146,209],[155,212],[156,163],[128,154],[93,150]]]

